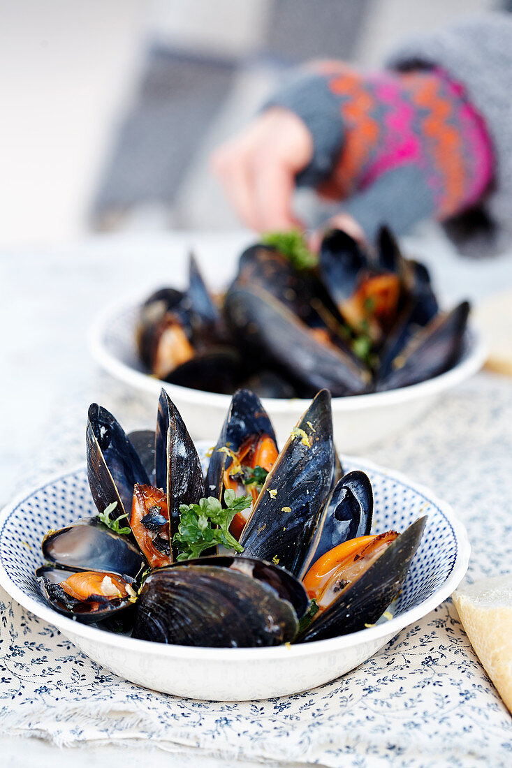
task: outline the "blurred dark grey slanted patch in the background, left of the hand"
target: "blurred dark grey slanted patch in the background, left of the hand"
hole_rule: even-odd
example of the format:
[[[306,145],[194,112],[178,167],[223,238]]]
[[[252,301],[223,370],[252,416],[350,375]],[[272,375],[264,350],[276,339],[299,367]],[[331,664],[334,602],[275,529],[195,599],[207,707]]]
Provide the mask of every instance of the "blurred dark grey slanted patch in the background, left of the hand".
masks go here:
[[[233,62],[151,49],[98,190],[92,211],[97,223],[108,209],[155,200],[172,204],[235,70]]]

